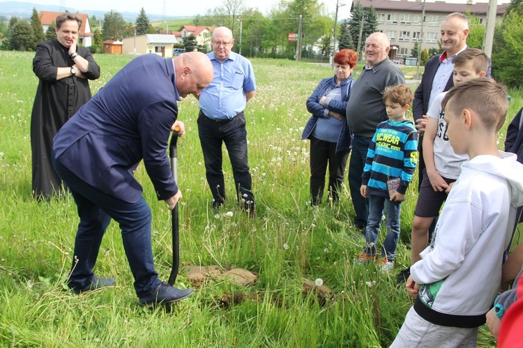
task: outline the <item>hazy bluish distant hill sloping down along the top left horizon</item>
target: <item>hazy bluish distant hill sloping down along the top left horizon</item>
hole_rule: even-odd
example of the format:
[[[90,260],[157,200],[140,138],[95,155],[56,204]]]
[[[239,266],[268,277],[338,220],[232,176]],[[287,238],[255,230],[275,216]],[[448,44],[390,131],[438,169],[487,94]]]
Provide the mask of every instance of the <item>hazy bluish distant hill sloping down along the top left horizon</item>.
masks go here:
[[[54,11],[54,12],[60,12],[63,10],[64,12],[68,10],[69,12],[77,12],[77,8],[61,8],[60,6],[54,6],[54,5],[39,5],[37,3],[30,3],[30,2],[19,2],[19,1],[0,1],[0,16],[5,17],[13,17],[17,16],[19,18],[30,18],[31,14],[33,13],[33,8],[36,8],[38,12],[40,11]],[[89,15],[89,17],[92,17],[93,15],[96,15],[96,18],[102,18],[105,15],[105,13],[109,11],[100,11],[100,10],[78,10],[79,13],[86,13]],[[127,22],[134,23],[136,18],[138,17],[139,13],[131,13],[131,12],[120,12],[123,19]],[[146,13],[147,17],[149,17],[149,20],[151,22],[158,22],[158,21],[164,21],[164,20],[177,20],[181,18],[190,18],[190,17],[176,17],[176,16],[167,16],[165,19],[162,15],[153,15],[151,13]]]

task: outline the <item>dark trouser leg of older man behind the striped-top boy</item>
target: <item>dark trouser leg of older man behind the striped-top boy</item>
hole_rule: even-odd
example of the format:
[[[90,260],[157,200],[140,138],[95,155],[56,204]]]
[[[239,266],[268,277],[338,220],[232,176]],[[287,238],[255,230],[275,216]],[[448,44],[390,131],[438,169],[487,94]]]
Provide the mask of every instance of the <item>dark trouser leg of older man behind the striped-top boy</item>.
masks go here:
[[[351,190],[352,205],[354,206],[354,225],[367,225],[368,201],[363,198],[360,192],[361,188],[361,174],[363,174],[363,167],[365,167],[365,159],[367,158],[367,151],[372,137],[358,137],[354,135],[352,140],[352,153],[349,162],[349,189]]]

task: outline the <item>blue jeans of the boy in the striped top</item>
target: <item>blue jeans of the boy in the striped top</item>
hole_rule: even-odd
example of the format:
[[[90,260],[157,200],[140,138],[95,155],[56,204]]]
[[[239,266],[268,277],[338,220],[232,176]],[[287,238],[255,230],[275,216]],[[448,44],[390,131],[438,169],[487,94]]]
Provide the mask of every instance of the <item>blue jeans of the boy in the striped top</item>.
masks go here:
[[[381,257],[386,257],[388,261],[394,261],[397,241],[400,239],[400,212],[402,202],[394,202],[388,198],[377,195],[367,195],[367,197],[369,197],[369,217],[367,218],[367,228],[365,229],[365,241],[367,241],[367,245],[363,248],[363,252],[371,256],[376,254],[379,225],[384,206],[386,205],[385,225],[387,227],[387,236],[385,237],[383,248],[381,248]]]

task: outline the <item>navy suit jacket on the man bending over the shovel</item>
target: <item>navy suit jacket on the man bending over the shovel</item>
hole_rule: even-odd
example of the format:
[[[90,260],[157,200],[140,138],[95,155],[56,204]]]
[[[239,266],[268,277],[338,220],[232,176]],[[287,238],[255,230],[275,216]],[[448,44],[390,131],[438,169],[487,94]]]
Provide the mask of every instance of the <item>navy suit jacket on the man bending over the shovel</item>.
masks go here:
[[[89,185],[135,203],[142,186],[133,173],[143,159],[158,199],[178,187],[167,157],[178,115],[172,59],[133,59],[79,109],[54,137],[56,159]]]

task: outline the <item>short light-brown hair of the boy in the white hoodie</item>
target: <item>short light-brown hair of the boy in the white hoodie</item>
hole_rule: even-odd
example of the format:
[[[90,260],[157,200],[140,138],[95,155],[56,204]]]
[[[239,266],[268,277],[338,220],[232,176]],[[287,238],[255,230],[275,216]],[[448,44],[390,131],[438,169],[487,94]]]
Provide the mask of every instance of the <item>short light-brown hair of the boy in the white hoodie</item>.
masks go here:
[[[453,114],[459,115],[464,109],[472,110],[487,129],[497,132],[505,123],[507,89],[494,80],[477,78],[454,86],[441,102],[441,108],[445,109],[450,100]]]

